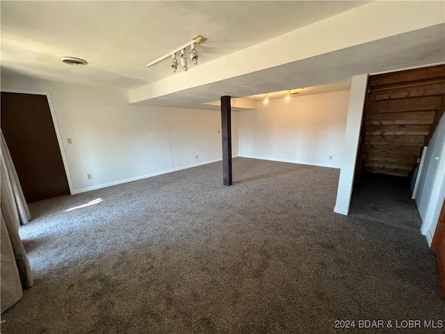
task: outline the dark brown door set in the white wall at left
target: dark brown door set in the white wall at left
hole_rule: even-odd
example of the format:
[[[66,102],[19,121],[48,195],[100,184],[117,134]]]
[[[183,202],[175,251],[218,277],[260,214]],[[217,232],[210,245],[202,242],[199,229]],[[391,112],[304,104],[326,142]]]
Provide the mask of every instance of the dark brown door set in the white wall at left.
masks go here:
[[[70,193],[46,95],[2,92],[1,130],[26,202]]]

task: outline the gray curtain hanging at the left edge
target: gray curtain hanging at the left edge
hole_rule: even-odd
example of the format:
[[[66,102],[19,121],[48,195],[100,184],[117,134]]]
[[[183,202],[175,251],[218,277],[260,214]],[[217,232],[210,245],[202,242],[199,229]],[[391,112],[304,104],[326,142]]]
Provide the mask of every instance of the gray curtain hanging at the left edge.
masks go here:
[[[33,285],[33,273],[19,236],[19,225],[31,215],[17,172],[1,133],[1,313],[22,298],[22,289]]]

